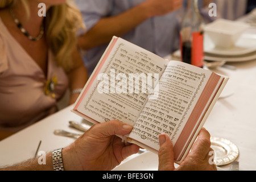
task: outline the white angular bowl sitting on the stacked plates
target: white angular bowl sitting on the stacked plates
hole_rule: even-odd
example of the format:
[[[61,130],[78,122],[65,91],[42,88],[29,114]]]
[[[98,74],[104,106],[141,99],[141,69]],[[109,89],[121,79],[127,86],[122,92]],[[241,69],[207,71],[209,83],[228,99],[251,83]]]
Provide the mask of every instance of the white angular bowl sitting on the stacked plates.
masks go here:
[[[207,24],[204,27],[204,31],[216,47],[230,48],[236,44],[242,33],[249,27],[249,25],[243,22],[217,19]]]

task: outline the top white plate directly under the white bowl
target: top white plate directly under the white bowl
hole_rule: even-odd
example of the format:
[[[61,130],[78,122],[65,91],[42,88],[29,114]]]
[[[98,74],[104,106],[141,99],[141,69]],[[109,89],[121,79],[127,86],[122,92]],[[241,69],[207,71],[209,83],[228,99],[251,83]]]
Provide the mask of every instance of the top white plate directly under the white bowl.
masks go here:
[[[235,46],[230,48],[215,47],[207,34],[204,36],[204,52],[217,56],[241,56],[256,51],[256,35],[243,34]]]

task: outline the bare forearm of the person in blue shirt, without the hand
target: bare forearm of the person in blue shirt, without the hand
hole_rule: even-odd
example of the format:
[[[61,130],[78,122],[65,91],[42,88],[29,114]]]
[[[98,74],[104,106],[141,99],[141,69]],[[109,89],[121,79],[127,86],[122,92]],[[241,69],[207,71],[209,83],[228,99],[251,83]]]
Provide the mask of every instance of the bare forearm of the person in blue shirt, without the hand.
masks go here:
[[[147,6],[142,3],[116,16],[102,18],[92,29],[79,38],[82,49],[90,49],[110,42],[113,35],[122,36],[151,17]]]

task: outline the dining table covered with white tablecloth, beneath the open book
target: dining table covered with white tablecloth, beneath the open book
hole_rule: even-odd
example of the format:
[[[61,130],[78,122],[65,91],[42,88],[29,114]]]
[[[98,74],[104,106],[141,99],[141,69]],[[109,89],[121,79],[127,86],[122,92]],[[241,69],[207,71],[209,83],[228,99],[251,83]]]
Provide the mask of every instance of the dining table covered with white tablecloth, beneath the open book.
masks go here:
[[[256,27],[247,30],[251,39],[256,42]],[[256,55],[256,50],[255,50]],[[239,163],[239,170],[256,170],[256,58],[243,61],[227,61],[224,66],[211,69],[229,77],[220,98],[214,105],[204,124],[212,138],[221,138],[237,147],[237,156],[232,159]],[[79,115],[72,113],[69,105],[57,113],[36,122],[0,141],[0,167],[9,166],[24,160],[35,158],[39,151],[50,152],[65,147],[75,138],[55,135],[55,130],[65,130],[82,134],[69,126],[69,121],[92,126]],[[39,145],[40,144],[40,145]],[[229,153],[223,148],[223,154]],[[178,167],[177,164],[175,164]],[[217,166],[218,170],[230,170],[231,162]],[[141,150],[125,159],[113,170],[118,171],[154,171],[158,170],[158,155]]]

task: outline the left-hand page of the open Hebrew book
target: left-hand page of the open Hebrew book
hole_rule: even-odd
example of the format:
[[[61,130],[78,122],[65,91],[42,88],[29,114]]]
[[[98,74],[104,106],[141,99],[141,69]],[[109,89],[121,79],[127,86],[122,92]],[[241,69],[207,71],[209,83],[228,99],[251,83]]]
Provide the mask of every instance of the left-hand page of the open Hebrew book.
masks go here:
[[[118,119],[134,125],[168,62],[126,40],[115,39],[89,80],[77,111],[97,122]]]

